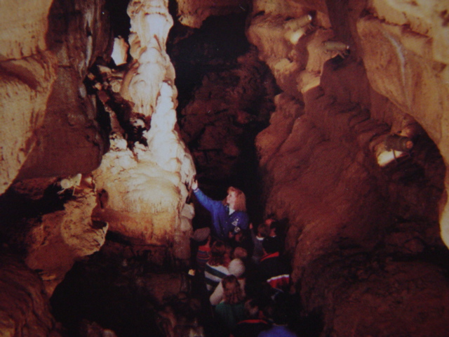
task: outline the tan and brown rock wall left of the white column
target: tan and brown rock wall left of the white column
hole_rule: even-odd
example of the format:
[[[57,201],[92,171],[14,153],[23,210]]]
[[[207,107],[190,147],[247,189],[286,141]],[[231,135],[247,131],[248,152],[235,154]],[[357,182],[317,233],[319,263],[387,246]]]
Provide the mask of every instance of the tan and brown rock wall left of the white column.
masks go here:
[[[105,240],[107,227],[95,227],[90,218],[95,186],[86,185],[81,173],[98,167],[107,148],[95,97],[83,79],[107,53],[109,26],[104,1],[53,1],[39,10],[34,5],[5,5],[10,12],[2,12],[6,24],[15,18],[2,31],[2,47],[8,48],[1,62],[7,128],[1,165],[8,168],[1,174],[2,234],[6,246],[15,246],[29,267],[40,270],[50,296],[74,260],[98,251]],[[69,200],[75,188],[76,200]]]

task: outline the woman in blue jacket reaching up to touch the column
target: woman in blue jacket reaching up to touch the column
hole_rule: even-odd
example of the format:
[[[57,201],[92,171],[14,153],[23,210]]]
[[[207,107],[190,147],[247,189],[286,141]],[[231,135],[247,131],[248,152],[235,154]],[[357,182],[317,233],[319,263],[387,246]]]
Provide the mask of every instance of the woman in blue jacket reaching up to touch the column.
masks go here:
[[[223,201],[210,199],[198,187],[194,180],[192,189],[196,199],[212,216],[213,236],[221,240],[229,240],[241,230],[248,230],[248,214],[246,213],[245,194],[236,187],[227,189],[227,197]]]

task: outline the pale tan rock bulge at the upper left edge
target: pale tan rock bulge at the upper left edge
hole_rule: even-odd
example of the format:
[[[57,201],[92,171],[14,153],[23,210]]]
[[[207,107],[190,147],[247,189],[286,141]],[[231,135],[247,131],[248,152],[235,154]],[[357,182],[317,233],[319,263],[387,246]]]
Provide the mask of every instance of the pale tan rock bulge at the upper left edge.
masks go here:
[[[51,1],[4,1],[0,13],[0,193],[36,145],[56,59],[46,52]],[[19,15],[19,16],[18,16]]]

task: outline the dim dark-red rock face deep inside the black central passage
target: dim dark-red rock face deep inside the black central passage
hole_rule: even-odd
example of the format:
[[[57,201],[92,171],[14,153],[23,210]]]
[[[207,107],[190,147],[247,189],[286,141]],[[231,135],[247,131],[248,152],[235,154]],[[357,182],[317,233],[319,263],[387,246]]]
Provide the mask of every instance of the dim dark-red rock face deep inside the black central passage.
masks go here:
[[[199,177],[238,181],[250,176],[253,138],[266,124],[276,85],[255,51],[237,58],[229,70],[203,77],[180,125],[196,159]],[[247,186],[249,187],[249,186]]]

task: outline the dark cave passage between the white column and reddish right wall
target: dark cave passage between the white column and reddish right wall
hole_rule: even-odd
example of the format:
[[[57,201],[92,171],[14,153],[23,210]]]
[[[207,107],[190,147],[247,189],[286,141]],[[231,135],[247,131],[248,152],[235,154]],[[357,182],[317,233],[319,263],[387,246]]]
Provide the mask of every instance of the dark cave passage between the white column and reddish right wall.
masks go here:
[[[197,178],[215,199],[224,198],[229,186],[243,190],[251,219],[260,223],[255,137],[269,124],[279,88],[245,28],[246,13],[210,17],[199,29],[175,21],[167,49],[176,71],[178,123]]]

